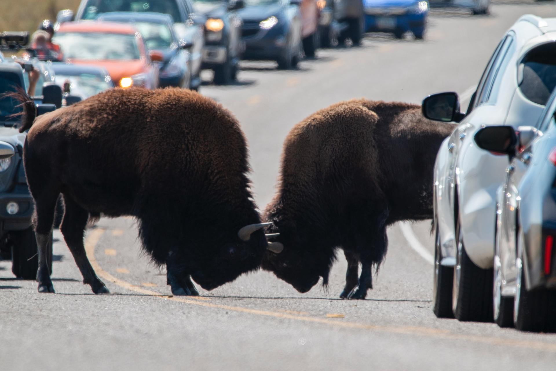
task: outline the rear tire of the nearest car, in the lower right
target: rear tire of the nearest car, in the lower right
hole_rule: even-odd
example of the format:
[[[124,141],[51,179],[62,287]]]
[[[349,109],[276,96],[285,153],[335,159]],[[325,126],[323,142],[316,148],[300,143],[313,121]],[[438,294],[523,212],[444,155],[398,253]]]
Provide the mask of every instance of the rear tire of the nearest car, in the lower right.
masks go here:
[[[516,268],[515,328],[529,332],[554,332],[556,330],[556,290],[539,288],[527,291],[522,255],[516,261]]]

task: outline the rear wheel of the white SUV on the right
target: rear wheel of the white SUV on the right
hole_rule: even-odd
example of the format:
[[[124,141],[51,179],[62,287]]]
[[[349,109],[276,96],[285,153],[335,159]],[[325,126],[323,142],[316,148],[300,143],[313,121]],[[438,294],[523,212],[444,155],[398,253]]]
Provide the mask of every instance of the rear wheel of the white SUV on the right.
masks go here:
[[[458,217],[456,222],[456,266],[452,289],[452,310],[460,321],[490,322],[492,314],[492,269],[481,269],[469,258],[463,244]]]

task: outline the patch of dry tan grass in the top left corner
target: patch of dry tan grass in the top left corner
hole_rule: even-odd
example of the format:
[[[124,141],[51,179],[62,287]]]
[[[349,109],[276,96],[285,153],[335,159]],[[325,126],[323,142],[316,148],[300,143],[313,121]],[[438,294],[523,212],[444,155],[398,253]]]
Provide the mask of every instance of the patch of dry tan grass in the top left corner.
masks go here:
[[[62,9],[77,11],[81,0],[0,0],[0,32],[33,33],[43,19],[56,20]]]

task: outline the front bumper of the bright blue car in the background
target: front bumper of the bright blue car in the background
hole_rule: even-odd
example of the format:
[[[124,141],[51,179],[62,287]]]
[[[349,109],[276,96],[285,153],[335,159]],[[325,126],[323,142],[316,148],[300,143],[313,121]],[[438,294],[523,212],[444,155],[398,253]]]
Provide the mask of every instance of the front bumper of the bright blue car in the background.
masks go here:
[[[417,32],[423,33],[428,12],[420,14],[381,15],[365,14],[366,32]]]

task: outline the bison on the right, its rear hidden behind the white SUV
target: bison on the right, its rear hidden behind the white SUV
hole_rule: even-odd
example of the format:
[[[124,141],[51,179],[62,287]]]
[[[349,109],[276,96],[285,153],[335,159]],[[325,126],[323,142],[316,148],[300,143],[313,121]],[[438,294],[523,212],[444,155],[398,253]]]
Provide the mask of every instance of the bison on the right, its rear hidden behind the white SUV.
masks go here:
[[[452,130],[426,120],[420,106],[368,100],[337,103],[297,124],[265,215],[269,241],[283,251],[267,253],[262,267],[305,293],[319,277],[327,285],[341,247],[348,268],[340,298],[364,299],[371,268],[386,254],[386,226],[433,216],[434,161]]]

